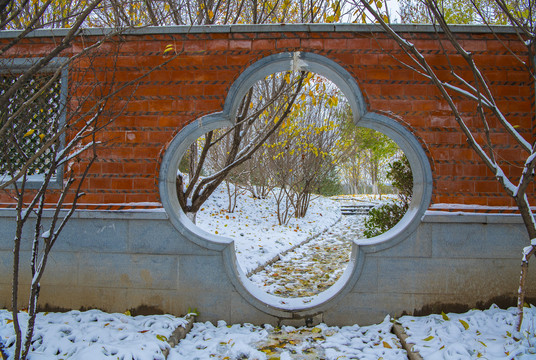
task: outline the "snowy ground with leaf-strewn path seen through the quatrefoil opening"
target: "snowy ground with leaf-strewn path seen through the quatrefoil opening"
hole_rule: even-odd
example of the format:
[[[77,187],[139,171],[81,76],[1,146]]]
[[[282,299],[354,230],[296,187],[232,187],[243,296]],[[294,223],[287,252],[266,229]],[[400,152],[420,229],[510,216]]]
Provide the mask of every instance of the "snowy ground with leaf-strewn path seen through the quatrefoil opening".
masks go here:
[[[272,193],[258,199],[242,190],[234,212],[229,213],[229,196],[220,186],[198,212],[196,224],[234,239],[240,266],[263,291],[281,297],[310,297],[339,279],[350,259],[352,241],[363,237],[365,216],[342,216],[341,205],[377,206],[395,197],[315,196],[304,218],[291,216],[286,225],[279,225]],[[278,255],[277,262],[265,267]]]

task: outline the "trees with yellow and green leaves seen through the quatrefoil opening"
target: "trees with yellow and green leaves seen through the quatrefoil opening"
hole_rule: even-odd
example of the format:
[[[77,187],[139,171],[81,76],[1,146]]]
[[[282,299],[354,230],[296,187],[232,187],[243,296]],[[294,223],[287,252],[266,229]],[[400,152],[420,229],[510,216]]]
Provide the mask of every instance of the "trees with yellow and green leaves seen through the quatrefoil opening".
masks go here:
[[[201,137],[183,157],[179,202],[195,213],[225,184],[228,211],[240,191],[269,194],[279,224],[304,217],[315,194],[385,190],[386,164],[400,153],[387,136],[353,123],[344,94],[313,73],[277,73],[244,97],[236,125]]]

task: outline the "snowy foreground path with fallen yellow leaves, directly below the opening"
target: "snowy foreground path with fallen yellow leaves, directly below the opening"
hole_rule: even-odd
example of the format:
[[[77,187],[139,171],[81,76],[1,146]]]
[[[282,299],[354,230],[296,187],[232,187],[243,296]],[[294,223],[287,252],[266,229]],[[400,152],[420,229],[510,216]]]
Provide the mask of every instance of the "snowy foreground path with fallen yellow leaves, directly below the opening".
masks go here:
[[[378,325],[340,328],[196,323],[168,359],[407,359],[391,326],[389,317]]]

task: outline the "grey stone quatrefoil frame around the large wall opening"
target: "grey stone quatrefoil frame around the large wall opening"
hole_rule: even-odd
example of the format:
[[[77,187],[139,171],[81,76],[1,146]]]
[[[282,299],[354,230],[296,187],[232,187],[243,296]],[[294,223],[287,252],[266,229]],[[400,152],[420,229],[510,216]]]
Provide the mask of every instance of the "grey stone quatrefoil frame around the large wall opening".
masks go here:
[[[208,131],[232,126],[241,99],[251,86],[266,76],[289,70],[305,70],[332,81],[346,96],[356,126],[371,128],[395,141],[409,160],[413,171],[413,197],[402,220],[384,234],[354,241],[350,262],[341,278],[312,298],[282,298],[264,292],[247,279],[238,264],[234,241],[209,234],[194,225],[177,200],[176,175],[179,162],[194,141]],[[429,159],[417,138],[396,120],[370,112],[353,76],[335,61],[309,52],[286,52],[270,55],[249,66],[229,89],[222,112],[203,116],[185,126],[171,141],[161,162],[160,198],[174,227],[187,239],[208,250],[220,251],[226,272],[243,299],[257,309],[279,318],[315,316],[342,300],[357,283],[364,258],[395,246],[413,234],[422,222],[432,197],[432,172]]]

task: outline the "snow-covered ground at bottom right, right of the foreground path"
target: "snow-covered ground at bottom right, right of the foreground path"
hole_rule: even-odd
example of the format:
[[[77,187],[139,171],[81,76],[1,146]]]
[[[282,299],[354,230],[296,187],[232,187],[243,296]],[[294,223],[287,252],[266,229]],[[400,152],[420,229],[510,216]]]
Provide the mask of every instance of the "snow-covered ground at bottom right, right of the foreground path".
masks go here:
[[[471,310],[464,314],[404,316],[407,341],[426,360],[536,359],[536,307],[525,308],[515,332],[516,309]]]

